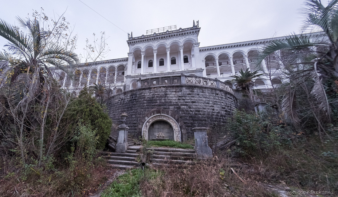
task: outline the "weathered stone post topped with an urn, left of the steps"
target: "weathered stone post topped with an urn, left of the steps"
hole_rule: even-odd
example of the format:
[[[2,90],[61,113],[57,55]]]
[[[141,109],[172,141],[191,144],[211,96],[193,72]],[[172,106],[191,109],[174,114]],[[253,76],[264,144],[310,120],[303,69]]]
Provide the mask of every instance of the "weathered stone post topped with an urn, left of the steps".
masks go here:
[[[125,123],[127,115],[121,115],[121,124],[117,127],[117,144],[115,152],[126,152],[128,149],[128,126]]]

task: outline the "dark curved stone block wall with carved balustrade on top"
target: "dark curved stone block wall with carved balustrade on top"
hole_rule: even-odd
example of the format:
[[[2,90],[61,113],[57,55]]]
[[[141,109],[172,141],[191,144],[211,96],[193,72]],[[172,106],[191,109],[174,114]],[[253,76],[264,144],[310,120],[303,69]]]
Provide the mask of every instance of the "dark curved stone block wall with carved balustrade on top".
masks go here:
[[[149,117],[168,115],[179,125],[182,141],[187,141],[193,138],[192,128],[226,123],[226,118],[231,117],[237,107],[232,89],[218,80],[182,75],[156,78],[156,81],[165,80],[174,84],[148,86],[155,83],[153,79],[146,79],[142,80],[146,87],[140,84],[138,89],[113,95],[107,103],[113,122],[119,123],[120,115],[126,112],[129,134],[137,138],[142,136],[143,125]]]

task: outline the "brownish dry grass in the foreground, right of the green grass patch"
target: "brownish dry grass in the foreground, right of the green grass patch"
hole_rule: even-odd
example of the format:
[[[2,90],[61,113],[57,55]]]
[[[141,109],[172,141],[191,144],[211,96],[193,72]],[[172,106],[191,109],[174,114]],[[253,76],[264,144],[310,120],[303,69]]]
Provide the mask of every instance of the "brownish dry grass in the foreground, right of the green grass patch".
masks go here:
[[[157,169],[161,173],[155,178],[147,178],[145,174],[140,189],[144,197],[274,196],[255,181],[243,183],[231,170],[233,167],[239,176],[245,177],[240,166],[217,156],[196,165],[172,165],[170,168],[163,165]]]

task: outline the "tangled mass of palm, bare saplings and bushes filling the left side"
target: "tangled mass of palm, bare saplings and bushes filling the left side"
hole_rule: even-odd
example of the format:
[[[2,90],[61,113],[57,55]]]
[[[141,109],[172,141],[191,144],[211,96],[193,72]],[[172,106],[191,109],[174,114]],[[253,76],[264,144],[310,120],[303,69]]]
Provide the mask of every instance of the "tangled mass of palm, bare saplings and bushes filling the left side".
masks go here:
[[[9,42],[0,52],[0,196],[81,195],[106,170],[112,122],[91,89],[55,79],[62,70],[70,83],[79,63],[65,18],[35,12],[18,22],[0,20]]]

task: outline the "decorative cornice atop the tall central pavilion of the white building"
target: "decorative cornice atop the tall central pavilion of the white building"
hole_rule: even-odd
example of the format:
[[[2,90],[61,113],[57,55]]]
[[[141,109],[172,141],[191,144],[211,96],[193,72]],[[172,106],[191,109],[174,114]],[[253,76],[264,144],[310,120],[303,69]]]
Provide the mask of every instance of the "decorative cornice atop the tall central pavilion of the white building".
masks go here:
[[[198,35],[200,29],[201,28],[190,27],[190,28],[178,29],[178,30],[156,33],[156,34],[151,34],[151,35],[142,35],[136,38],[130,38],[129,40],[127,40],[127,44],[128,46],[133,46],[139,43],[167,40],[171,38],[178,38],[178,37],[194,35],[194,34]]]

